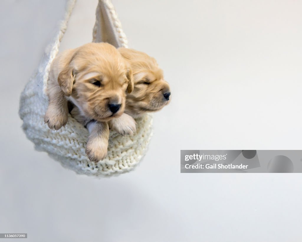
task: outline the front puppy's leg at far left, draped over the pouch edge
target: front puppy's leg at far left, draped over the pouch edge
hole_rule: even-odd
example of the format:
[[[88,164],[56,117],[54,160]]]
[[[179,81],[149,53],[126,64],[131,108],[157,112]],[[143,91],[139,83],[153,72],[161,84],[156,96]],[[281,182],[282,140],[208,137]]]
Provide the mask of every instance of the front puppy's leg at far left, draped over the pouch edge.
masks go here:
[[[49,104],[44,116],[44,122],[51,129],[58,130],[68,120],[67,100],[59,86],[50,87],[48,97]]]

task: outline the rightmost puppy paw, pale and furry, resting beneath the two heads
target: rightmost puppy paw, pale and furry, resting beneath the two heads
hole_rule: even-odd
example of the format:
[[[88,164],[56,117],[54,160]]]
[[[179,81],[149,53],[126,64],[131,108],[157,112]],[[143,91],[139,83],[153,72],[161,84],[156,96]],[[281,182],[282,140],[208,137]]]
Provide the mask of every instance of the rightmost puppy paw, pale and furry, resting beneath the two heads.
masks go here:
[[[125,113],[119,118],[114,118],[110,121],[110,127],[120,135],[133,134],[136,132],[135,120]]]

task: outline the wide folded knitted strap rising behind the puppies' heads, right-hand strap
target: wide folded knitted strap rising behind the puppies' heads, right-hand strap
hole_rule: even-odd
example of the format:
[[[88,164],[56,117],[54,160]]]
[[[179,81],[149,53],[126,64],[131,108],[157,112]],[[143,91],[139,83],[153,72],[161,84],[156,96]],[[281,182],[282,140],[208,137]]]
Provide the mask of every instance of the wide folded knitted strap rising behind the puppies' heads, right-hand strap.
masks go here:
[[[128,47],[120,20],[110,0],[99,0],[92,42],[107,42],[115,47]]]

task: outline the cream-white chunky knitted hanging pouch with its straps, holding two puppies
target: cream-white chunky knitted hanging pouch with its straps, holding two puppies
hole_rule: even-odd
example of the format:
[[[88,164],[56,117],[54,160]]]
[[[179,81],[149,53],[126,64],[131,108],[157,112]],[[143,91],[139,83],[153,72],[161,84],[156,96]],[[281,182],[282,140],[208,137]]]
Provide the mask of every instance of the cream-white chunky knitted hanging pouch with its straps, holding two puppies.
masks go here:
[[[65,18],[59,26],[58,33],[45,51],[39,68],[21,93],[19,115],[23,120],[22,127],[27,138],[34,142],[36,150],[46,151],[66,168],[79,174],[94,176],[120,174],[133,170],[145,155],[152,136],[151,115],[136,120],[137,132],[133,136],[120,136],[111,131],[108,154],[97,164],[90,162],[85,154],[87,129],[70,115],[67,124],[57,131],[50,130],[44,123],[48,105],[45,90],[50,64],[58,53],[75,2],[76,0],[67,2]],[[109,0],[98,2],[93,41],[108,42],[115,47],[127,47],[127,38]]]

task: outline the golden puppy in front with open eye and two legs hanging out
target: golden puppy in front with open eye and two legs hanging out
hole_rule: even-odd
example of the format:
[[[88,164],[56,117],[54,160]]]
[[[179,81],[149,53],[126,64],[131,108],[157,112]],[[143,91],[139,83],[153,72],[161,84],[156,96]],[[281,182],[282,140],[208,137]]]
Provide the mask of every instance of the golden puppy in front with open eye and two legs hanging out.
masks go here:
[[[64,126],[71,102],[89,119],[85,124],[82,120],[89,131],[86,153],[97,162],[107,154],[107,122],[124,112],[126,90],[133,90],[132,71],[114,46],[89,43],[66,50],[50,67],[44,121],[51,129]]]

